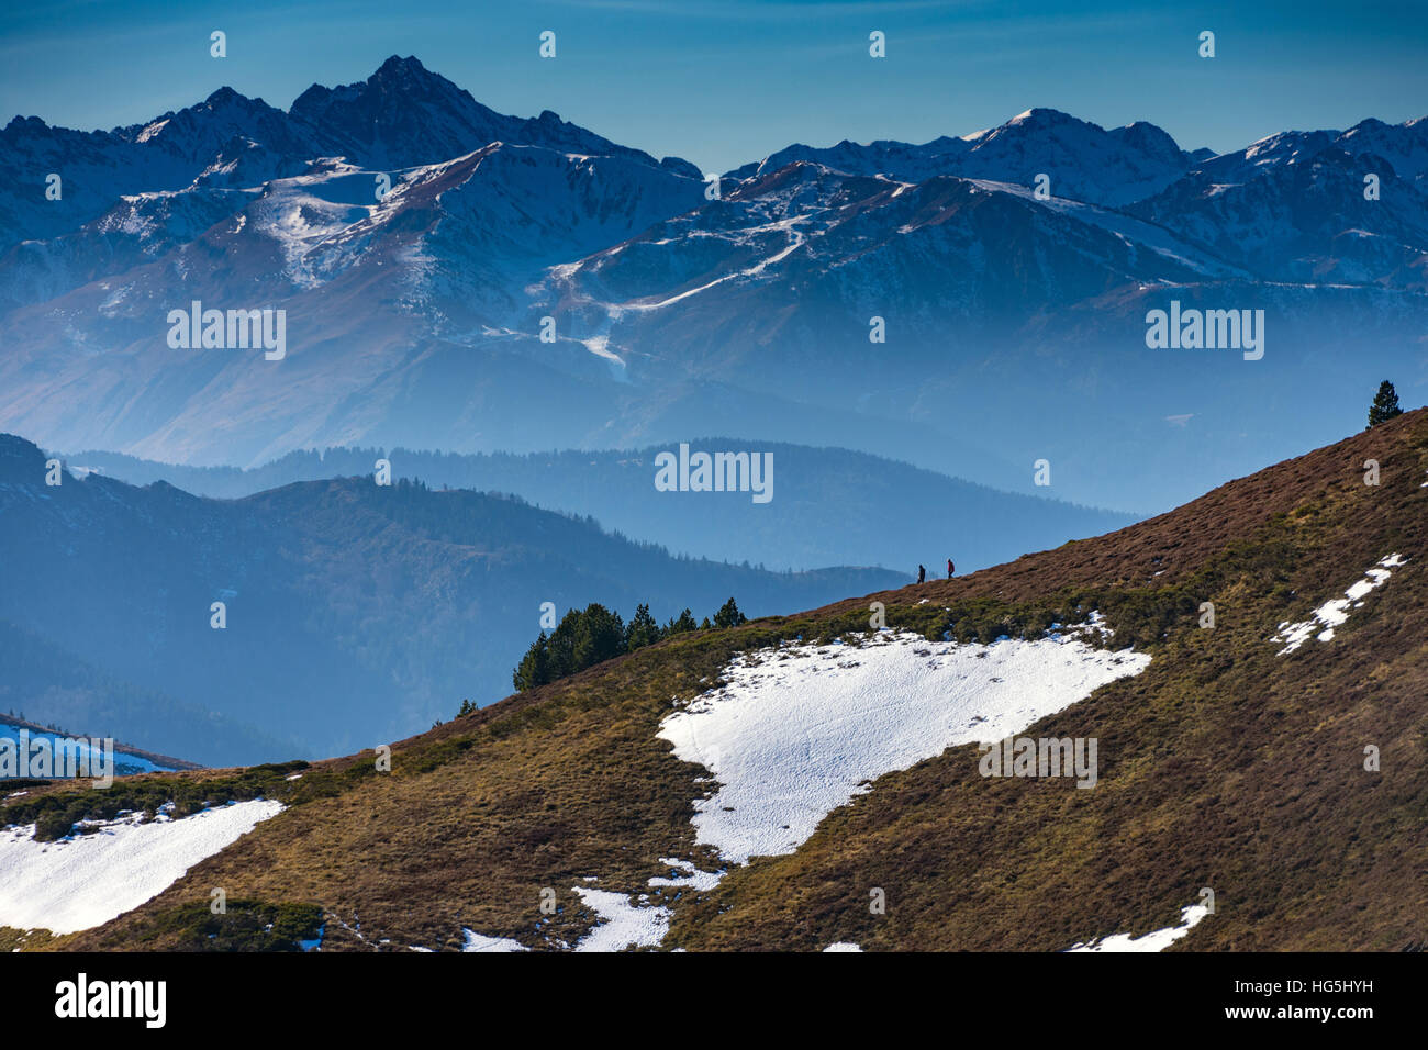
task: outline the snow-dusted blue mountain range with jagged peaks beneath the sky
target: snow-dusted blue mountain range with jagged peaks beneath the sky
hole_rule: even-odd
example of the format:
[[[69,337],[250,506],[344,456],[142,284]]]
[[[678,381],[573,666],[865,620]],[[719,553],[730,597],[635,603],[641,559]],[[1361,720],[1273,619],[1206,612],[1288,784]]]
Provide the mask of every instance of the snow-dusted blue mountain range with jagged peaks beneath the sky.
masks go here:
[[[1341,427],[1351,380],[1428,380],[1422,119],[1210,156],[1032,109],[790,146],[715,194],[393,57],[287,111],[220,89],[107,133],[16,117],[0,163],[0,427],[51,449],[243,466],[738,433],[1008,489],[1050,456],[1054,494],[1145,509]],[[1265,359],[1147,349],[1171,300],[1265,310]],[[194,301],[283,310],[286,354],[170,346]],[[1111,476],[1147,444],[1148,471]]]

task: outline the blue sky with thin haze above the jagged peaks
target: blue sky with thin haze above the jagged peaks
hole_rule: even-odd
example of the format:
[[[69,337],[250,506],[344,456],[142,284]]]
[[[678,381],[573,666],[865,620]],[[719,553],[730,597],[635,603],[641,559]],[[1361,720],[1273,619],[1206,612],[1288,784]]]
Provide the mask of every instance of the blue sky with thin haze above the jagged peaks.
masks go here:
[[[791,141],[965,134],[1032,106],[1150,120],[1228,150],[1285,129],[1428,113],[1428,6],[1411,3],[60,0],[0,13],[0,121],[130,124],[221,84],[287,107],[390,54],[503,113],[551,109],[705,170]],[[228,57],[208,56],[208,33]],[[537,56],[557,34],[557,57]],[[868,57],[868,33],[887,57]],[[1217,57],[1197,56],[1212,30]]]

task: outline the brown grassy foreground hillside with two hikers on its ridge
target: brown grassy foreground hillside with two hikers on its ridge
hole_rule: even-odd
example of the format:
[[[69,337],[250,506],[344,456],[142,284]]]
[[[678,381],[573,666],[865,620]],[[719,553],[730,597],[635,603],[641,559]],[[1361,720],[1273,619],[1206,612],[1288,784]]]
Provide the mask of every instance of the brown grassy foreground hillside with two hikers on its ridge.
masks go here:
[[[1364,484],[1368,459],[1378,487]],[[710,689],[735,653],[864,630],[883,601],[888,626],[982,640],[1101,610],[1111,644],[1134,641],[1150,667],[1028,730],[1098,737],[1098,786],[988,780],[974,747],[948,749],[880,777],[790,856],[755,859],[707,893],[648,890],[674,913],[665,947],[1058,950],[1172,926],[1201,887],[1218,911],[1174,950],[1422,947],[1425,481],[1419,410],[1117,533],[680,636],[401,741],[391,773],[363,753],[273,776],[288,811],[133,913],[50,946],[204,947],[211,917],[197,906],[217,886],[254,901],[250,924],[251,909],[320,909],[326,950],[458,947],[461,927],[574,943],[595,921],[571,889],[587,876],[638,891],[667,874],[661,857],[718,866],[690,824],[713,786],[655,736],[674,701]],[[1332,640],[1278,654],[1281,623],[1395,551],[1407,564]],[[1200,626],[1205,601],[1212,630]],[[1364,767],[1369,744],[1379,771]],[[121,787],[183,783],[217,800],[253,776]],[[99,799],[56,794],[67,814]],[[543,887],[561,906],[550,917]],[[885,890],[885,914],[870,914],[871,887]]]

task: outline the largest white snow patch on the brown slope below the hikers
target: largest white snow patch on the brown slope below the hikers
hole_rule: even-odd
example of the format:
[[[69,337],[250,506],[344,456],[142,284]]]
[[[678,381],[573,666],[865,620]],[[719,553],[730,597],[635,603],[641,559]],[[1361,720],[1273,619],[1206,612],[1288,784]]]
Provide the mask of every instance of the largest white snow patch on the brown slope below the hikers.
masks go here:
[[[880,631],[861,646],[748,653],[660,736],[708,769],[695,839],[733,864],[793,853],[838,806],[955,744],[994,741],[1140,674],[1150,656],[1077,634],[990,646]]]

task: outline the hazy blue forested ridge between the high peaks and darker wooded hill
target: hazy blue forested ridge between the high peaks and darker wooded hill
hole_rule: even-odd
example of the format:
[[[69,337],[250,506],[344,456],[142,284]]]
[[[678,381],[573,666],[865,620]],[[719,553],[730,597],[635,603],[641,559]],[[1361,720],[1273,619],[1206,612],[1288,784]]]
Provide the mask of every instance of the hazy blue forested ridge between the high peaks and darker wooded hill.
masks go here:
[[[921,561],[937,574],[941,560],[951,556],[965,573],[1131,520],[844,449],[728,437],[695,439],[690,449],[770,453],[773,499],[758,504],[658,491],[651,484],[654,460],[671,447],[657,446],[528,456],[327,449],[290,453],[247,471],[150,463],[114,453],[66,459],[130,484],[167,480],[184,491],[233,499],[291,481],[357,474],[386,457],[397,477],[514,493],[547,509],[591,514],[607,529],[674,551],[771,569],[851,561],[914,571]]]

